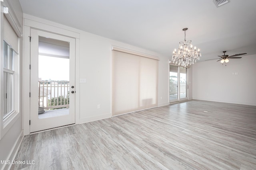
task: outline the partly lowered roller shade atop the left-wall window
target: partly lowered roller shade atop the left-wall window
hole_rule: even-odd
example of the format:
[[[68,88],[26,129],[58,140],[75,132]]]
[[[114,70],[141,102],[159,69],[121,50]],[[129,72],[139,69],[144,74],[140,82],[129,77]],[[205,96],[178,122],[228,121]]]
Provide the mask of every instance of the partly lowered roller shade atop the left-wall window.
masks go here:
[[[18,53],[18,35],[15,33],[12,25],[4,16],[4,40],[8,43],[16,53]]]

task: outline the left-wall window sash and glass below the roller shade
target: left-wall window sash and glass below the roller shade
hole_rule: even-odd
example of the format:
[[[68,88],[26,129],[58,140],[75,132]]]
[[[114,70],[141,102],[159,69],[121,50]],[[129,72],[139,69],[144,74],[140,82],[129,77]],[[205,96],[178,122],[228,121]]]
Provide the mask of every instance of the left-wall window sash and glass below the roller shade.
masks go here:
[[[15,60],[17,53],[4,41],[4,117],[8,117],[14,111],[14,77]]]

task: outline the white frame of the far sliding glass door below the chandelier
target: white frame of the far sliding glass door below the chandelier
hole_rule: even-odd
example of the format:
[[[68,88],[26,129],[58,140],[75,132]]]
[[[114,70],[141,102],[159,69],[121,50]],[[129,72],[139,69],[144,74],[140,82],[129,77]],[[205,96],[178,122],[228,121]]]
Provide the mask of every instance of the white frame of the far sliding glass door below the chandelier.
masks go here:
[[[177,88],[177,100],[172,100],[171,102],[170,102],[170,65],[172,65],[172,66],[177,66],[177,72],[178,72],[178,76],[177,76],[177,86],[178,86],[178,88]],[[169,64],[168,64],[168,101],[169,101],[169,103],[176,103],[176,102],[182,102],[182,101],[185,101],[185,100],[188,100],[188,94],[189,94],[189,88],[188,88],[188,84],[189,84],[189,82],[188,82],[188,80],[189,80],[189,78],[188,78],[188,70],[189,70],[189,67],[187,66],[187,67],[185,67],[185,68],[187,68],[186,69],[186,98],[182,98],[182,99],[180,99],[180,67],[182,67],[182,66],[178,66],[178,65],[176,65],[176,64],[173,64],[173,63],[170,63],[170,61],[169,61]]]

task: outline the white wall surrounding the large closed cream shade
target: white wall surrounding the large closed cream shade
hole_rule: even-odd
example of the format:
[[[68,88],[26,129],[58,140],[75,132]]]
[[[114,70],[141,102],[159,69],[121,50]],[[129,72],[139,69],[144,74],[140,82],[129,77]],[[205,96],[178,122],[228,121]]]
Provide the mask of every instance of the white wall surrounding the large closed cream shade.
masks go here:
[[[80,31],[79,74],[80,78],[86,78],[86,83],[80,84],[79,87],[80,123],[103,119],[111,117],[112,115],[112,45],[160,57],[158,71],[158,105],[162,106],[169,104],[167,57],[112,39]],[[100,109],[97,108],[98,104],[100,104]]]

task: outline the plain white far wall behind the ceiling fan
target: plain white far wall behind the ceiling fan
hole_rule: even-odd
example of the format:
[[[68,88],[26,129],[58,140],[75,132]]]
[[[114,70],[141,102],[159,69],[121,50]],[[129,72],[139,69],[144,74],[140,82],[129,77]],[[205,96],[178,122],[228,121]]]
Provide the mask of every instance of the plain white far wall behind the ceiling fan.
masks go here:
[[[241,57],[194,64],[193,99],[256,106],[256,55]]]

